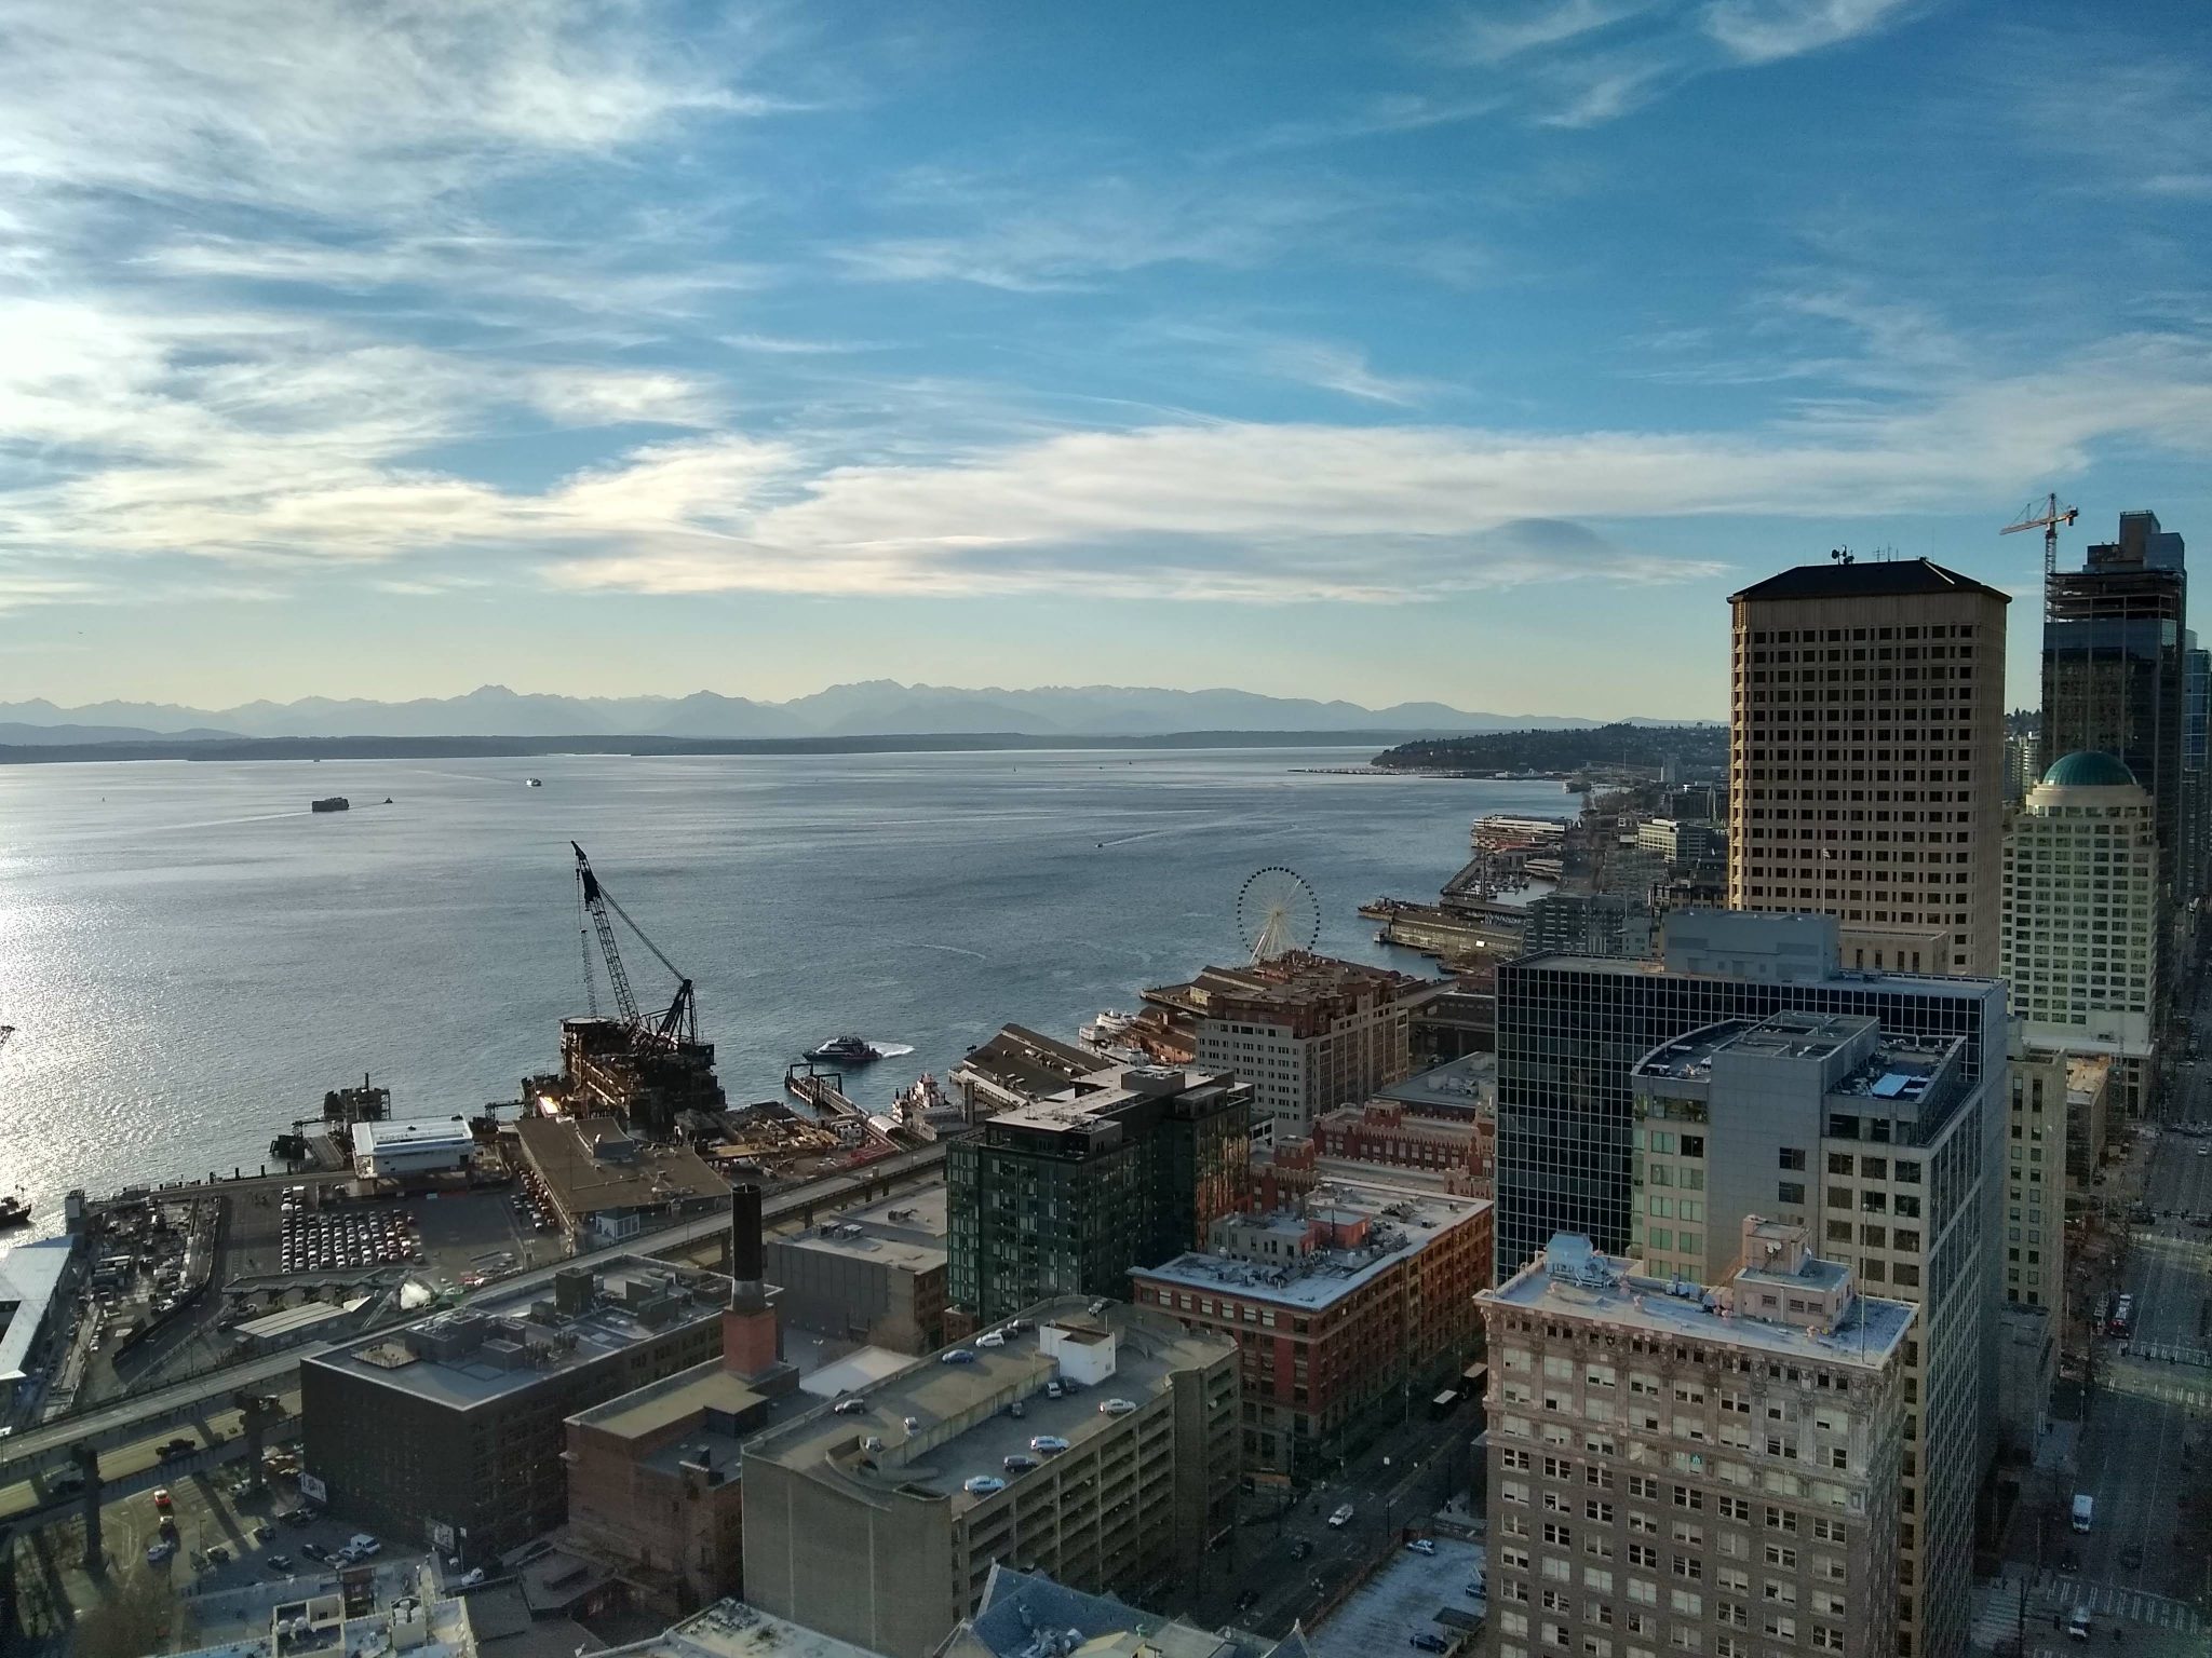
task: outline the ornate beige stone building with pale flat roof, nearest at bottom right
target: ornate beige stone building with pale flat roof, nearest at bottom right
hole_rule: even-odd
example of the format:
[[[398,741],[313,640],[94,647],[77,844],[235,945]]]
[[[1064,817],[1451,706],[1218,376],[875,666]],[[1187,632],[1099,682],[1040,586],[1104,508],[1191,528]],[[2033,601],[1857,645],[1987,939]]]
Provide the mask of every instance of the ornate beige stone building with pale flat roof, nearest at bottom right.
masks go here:
[[[1803,1227],[1719,1289],[1559,1234],[1482,1295],[1495,1658],[1898,1649],[1902,1351]]]

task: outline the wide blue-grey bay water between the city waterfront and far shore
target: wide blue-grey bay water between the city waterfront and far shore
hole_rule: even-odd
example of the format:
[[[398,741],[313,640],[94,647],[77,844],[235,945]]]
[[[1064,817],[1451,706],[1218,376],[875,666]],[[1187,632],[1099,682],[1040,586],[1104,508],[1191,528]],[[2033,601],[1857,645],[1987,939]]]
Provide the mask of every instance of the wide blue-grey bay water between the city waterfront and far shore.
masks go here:
[[[1073,1039],[1146,984],[1239,959],[1234,898],[1261,864],[1314,884],[1323,951],[1418,970],[1358,904],[1433,898],[1482,811],[1577,805],[1546,783],[1296,769],[1363,758],[0,767],[0,1189],[49,1229],[71,1185],[254,1167],[363,1072],[400,1116],[513,1099],[584,1010],[571,838],[697,982],[732,1103],[779,1096],[785,1061],[843,1030],[914,1046],[858,1072],[856,1096],[887,1103],[1009,1019]],[[323,794],[354,809],[310,816]],[[639,1001],[666,1006],[672,982],[622,944]]]

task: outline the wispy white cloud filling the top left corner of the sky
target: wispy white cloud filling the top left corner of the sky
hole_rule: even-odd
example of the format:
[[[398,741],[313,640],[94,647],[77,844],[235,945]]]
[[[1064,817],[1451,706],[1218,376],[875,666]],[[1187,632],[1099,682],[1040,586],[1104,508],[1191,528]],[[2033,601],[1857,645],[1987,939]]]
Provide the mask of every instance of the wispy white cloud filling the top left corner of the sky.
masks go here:
[[[622,0],[18,0],[0,177],[363,221],[779,108],[737,84],[741,29],[699,53],[639,24]]]

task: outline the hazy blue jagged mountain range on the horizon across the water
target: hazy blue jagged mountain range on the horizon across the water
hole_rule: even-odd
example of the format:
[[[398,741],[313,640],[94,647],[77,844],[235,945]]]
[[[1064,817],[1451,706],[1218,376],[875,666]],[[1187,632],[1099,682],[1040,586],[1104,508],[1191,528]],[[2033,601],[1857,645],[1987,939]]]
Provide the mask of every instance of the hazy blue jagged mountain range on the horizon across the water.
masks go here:
[[[1557,714],[1471,714],[1444,703],[1316,703],[1241,690],[1040,685],[958,690],[872,679],[787,703],[692,692],[690,696],[540,696],[482,685],[467,696],[411,703],[334,701],[177,707],[173,703],[0,703],[0,745],[212,741],[237,736],[677,736],[823,738],[949,736],[1159,736],[1168,732],[1504,732],[1579,730],[1599,721]],[[1670,721],[1648,721],[1666,725]]]

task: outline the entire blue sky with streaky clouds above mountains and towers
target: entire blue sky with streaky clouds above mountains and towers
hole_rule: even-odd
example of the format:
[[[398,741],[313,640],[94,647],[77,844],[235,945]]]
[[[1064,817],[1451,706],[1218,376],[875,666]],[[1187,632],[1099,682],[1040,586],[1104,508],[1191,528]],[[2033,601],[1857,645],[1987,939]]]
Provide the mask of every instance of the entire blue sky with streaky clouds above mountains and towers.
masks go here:
[[[0,9],[0,701],[1725,712],[2212,555],[2194,0]],[[2212,621],[2212,619],[2208,619]]]

